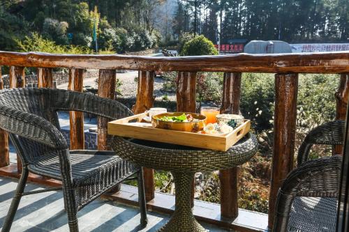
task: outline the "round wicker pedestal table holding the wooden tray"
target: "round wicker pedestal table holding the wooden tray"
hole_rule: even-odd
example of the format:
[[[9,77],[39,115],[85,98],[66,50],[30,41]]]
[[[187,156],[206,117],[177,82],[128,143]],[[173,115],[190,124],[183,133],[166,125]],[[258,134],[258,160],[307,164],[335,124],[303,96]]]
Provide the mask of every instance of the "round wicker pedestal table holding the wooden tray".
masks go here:
[[[191,183],[195,172],[229,169],[243,164],[255,155],[258,142],[253,134],[248,133],[225,152],[122,137],[114,137],[112,146],[120,157],[130,162],[172,172],[176,187],[175,210],[160,231],[178,232],[205,231],[195,220],[191,208]]]

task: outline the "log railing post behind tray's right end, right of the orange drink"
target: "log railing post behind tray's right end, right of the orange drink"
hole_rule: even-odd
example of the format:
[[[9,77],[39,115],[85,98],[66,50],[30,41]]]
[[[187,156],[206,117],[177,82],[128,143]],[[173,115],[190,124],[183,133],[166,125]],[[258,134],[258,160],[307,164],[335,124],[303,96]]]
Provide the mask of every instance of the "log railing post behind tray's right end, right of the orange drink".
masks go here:
[[[241,95],[241,72],[225,72],[223,79],[223,98],[221,114],[239,114]],[[237,205],[238,167],[220,170],[221,182],[221,217],[235,219],[239,214]]]

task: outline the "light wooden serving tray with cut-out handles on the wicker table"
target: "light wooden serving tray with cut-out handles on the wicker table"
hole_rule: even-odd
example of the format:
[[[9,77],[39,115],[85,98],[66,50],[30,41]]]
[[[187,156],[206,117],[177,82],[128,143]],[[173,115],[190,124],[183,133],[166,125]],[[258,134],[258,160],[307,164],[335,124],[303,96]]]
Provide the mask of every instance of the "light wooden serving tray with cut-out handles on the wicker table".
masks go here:
[[[244,120],[235,130],[225,136],[198,134],[192,132],[181,132],[176,130],[164,130],[153,127],[142,127],[128,124],[128,122],[140,122],[147,113],[121,118],[108,123],[108,134],[128,137],[133,139],[144,139],[150,141],[159,141],[168,144],[177,144],[184,146],[193,146],[195,148],[207,148],[211,150],[228,150],[237,143],[239,139],[248,133],[251,127],[251,121]]]

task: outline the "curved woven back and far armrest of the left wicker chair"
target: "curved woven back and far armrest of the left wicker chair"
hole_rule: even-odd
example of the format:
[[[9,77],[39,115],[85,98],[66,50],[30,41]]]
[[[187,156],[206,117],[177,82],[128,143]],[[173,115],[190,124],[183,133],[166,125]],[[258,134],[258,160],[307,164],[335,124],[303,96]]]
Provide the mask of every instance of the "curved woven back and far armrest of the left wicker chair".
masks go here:
[[[59,130],[57,111],[87,111],[102,117],[117,119],[129,116],[131,111],[120,102],[94,95],[52,88],[13,88],[0,91],[0,107],[5,105],[45,118]],[[57,131],[57,133],[59,133]],[[60,134],[61,135],[61,134]],[[63,137],[63,136],[62,136]],[[28,164],[38,155],[50,153],[52,147],[15,135],[10,136],[17,154]]]

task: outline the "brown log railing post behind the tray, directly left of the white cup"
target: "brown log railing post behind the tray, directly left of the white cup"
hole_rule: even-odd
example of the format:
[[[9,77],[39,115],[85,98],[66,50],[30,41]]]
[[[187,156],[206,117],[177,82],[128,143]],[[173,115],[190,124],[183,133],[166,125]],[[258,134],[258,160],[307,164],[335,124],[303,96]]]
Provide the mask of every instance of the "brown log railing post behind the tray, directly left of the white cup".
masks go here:
[[[133,113],[140,114],[154,105],[153,71],[138,71],[138,90]],[[151,201],[155,196],[154,170],[143,168],[145,200]]]

